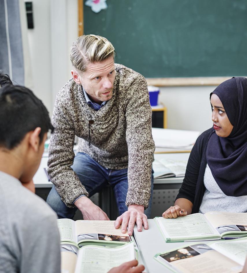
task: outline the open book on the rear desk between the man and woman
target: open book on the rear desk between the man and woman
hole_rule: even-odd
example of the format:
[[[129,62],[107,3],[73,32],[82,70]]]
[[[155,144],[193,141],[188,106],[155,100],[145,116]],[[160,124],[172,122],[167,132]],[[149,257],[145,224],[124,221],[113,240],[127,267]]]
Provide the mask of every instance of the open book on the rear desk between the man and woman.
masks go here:
[[[184,177],[186,165],[187,161],[185,160],[155,159],[153,162],[153,177],[156,179],[166,177]]]

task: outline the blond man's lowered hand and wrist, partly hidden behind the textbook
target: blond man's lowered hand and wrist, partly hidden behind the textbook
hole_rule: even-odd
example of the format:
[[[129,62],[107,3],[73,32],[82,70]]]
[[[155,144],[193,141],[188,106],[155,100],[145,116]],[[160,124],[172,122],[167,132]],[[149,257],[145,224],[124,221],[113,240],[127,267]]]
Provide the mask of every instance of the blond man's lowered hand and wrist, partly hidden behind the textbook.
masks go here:
[[[84,220],[110,220],[106,213],[86,196],[80,197],[74,204],[81,211]]]

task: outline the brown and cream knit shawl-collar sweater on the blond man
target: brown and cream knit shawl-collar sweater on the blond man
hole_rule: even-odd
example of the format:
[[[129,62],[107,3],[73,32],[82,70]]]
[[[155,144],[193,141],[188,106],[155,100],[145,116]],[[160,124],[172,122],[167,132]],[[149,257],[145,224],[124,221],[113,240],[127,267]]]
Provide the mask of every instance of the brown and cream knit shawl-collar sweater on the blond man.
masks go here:
[[[115,64],[115,69],[113,96],[99,111],[86,103],[82,86],[73,79],[57,94],[48,173],[68,207],[73,207],[79,195],[88,196],[70,168],[75,135],[79,137],[78,152],[90,155],[106,168],[128,168],[127,206],[148,207],[155,146],[147,84],[142,75],[123,65]]]

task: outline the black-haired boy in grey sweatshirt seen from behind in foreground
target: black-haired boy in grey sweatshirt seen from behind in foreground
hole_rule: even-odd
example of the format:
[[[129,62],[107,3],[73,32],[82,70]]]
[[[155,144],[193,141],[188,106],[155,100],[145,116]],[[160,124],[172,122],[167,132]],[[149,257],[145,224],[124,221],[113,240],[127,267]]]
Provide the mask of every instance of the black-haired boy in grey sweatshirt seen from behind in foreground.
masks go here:
[[[48,130],[47,109],[31,90],[0,88],[0,272],[60,272],[57,217],[21,184],[34,190]]]

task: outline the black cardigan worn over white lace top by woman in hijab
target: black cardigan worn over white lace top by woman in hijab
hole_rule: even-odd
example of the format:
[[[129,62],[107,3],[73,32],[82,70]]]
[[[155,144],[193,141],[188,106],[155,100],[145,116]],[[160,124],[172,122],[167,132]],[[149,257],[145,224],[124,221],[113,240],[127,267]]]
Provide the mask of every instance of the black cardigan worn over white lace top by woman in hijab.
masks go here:
[[[185,177],[177,198],[186,198],[193,204],[192,213],[199,211],[205,192],[204,173],[207,166],[206,148],[212,128],[203,132],[196,140],[187,163]]]

